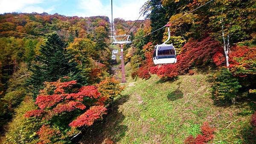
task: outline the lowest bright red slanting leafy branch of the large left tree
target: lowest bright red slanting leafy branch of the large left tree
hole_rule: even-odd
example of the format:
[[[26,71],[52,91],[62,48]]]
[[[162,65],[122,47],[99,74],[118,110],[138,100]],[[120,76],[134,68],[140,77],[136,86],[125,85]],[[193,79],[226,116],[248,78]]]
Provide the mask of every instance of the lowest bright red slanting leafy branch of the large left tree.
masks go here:
[[[90,126],[96,119],[102,118],[106,114],[106,108],[103,106],[90,107],[84,114],[80,115],[76,120],[72,121],[70,127]]]

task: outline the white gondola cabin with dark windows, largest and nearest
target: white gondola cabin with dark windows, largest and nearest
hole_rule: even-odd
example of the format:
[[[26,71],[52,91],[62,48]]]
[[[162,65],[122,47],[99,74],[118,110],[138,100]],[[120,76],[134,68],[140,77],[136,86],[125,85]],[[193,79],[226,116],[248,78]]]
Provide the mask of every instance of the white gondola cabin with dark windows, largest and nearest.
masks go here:
[[[156,45],[153,53],[154,64],[176,63],[176,51],[172,44]]]

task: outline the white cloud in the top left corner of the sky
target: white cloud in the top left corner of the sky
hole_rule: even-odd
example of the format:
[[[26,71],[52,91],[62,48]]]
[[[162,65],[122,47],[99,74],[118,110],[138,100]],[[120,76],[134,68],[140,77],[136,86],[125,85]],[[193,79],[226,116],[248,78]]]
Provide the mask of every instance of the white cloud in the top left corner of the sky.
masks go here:
[[[50,12],[53,7],[43,9],[39,6],[33,6],[38,3],[43,3],[44,0],[0,0],[0,13],[7,12]]]

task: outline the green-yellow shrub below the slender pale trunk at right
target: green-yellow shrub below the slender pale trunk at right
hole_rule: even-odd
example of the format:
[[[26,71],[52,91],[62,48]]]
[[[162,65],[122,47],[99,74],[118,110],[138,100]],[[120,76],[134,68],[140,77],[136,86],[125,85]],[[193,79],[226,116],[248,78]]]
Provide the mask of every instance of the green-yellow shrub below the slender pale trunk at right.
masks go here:
[[[225,67],[214,75],[213,93],[216,100],[231,100],[237,97],[241,85]]]

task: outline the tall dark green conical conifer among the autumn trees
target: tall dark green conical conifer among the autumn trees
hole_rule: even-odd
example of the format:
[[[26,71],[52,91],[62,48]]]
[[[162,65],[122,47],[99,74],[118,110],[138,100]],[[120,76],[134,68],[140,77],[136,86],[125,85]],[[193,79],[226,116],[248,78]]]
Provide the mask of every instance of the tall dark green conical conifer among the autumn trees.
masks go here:
[[[49,35],[46,44],[40,47],[41,55],[36,56],[36,64],[31,69],[33,74],[26,82],[34,99],[39,94],[39,90],[43,89],[44,81],[57,81],[68,75],[81,84],[85,83],[85,78],[82,78],[76,68],[77,63],[70,62],[71,58],[65,53],[64,48],[67,47],[67,44],[56,33]]]

